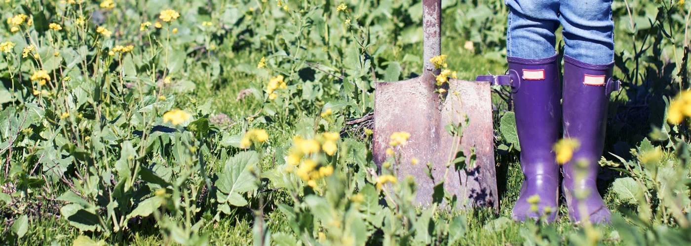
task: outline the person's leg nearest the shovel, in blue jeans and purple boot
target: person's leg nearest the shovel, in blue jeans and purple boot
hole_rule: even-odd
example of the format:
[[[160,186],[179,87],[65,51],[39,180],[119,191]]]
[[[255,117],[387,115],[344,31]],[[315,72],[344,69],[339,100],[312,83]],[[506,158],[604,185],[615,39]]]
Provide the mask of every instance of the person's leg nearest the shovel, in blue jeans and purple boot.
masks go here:
[[[514,79],[512,98],[524,174],[513,218],[547,214],[548,221],[553,221],[559,166],[552,145],[561,127],[560,73],[554,49],[558,0],[509,0],[507,6],[507,61]]]

